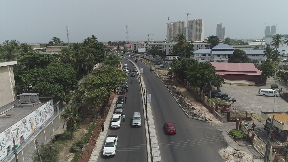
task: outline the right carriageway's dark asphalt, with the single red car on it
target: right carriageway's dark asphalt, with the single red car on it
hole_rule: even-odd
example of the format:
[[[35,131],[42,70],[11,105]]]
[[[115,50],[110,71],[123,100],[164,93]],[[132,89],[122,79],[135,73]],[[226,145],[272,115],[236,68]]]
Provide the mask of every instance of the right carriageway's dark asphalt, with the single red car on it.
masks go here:
[[[143,73],[150,72],[150,66],[144,63],[141,63],[141,68]],[[143,79],[145,82],[145,74]],[[228,145],[215,127],[187,118],[155,73],[147,74],[145,84],[147,92],[151,93],[151,110],[162,161],[226,161],[218,151]],[[165,122],[175,123],[175,135],[165,133]]]

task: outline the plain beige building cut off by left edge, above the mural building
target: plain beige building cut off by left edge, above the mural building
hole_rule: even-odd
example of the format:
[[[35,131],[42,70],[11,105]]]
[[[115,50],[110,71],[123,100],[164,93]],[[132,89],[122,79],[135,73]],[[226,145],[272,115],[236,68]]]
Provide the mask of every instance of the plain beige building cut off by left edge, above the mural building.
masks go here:
[[[12,65],[16,64],[17,61],[0,61],[0,107],[16,100],[14,92],[15,81],[12,67]]]

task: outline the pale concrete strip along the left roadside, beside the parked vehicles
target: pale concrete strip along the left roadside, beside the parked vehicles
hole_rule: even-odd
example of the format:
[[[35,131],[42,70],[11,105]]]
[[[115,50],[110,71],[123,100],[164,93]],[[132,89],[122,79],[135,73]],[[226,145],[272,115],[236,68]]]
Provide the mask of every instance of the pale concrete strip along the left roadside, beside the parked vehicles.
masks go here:
[[[99,155],[100,155],[102,147],[103,147],[103,143],[104,143],[104,141],[106,139],[106,135],[107,135],[108,128],[109,128],[109,123],[110,123],[111,118],[113,116],[113,111],[114,111],[114,108],[115,108],[116,101],[117,101],[117,97],[116,98],[114,97],[114,99],[113,99],[113,101],[111,103],[109,112],[107,114],[105,123],[104,123],[104,125],[106,125],[106,129],[103,131],[103,133],[102,133],[102,131],[100,132],[100,134],[98,136],[98,139],[96,141],[95,147],[94,147],[94,149],[93,149],[93,151],[91,153],[91,156],[89,158],[89,162],[97,162],[98,161]]]

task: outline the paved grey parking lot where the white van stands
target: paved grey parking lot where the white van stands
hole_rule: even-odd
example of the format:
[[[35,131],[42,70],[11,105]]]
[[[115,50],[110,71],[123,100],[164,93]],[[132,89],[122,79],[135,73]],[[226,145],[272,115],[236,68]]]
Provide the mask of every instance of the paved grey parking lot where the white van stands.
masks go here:
[[[267,78],[266,86],[236,86],[230,84],[222,84],[220,90],[227,93],[229,97],[236,99],[236,102],[231,105],[232,108],[238,109],[253,109],[253,113],[273,112],[274,97],[258,95],[259,88],[270,89],[270,85],[274,84],[274,78]],[[279,85],[280,83],[277,82]],[[279,86],[280,88],[280,86]],[[275,112],[287,111],[288,103],[281,97],[276,97]]]

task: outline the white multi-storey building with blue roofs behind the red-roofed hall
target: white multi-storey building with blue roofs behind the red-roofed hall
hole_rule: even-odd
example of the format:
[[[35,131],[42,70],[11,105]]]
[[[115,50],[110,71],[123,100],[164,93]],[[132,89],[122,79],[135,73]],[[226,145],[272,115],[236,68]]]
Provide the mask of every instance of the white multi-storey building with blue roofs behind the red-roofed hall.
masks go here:
[[[193,52],[194,59],[198,62],[226,62],[233,54],[234,48],[228,44],[218,44],[212,49],[199,49]],[[251,63],[257,61],[257,64],[261,65],[266,60],[266,56],[263,56],[263,50],[243,50],[247,56],[251,59]]]

